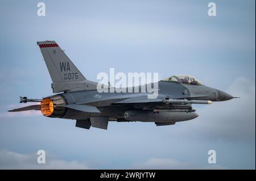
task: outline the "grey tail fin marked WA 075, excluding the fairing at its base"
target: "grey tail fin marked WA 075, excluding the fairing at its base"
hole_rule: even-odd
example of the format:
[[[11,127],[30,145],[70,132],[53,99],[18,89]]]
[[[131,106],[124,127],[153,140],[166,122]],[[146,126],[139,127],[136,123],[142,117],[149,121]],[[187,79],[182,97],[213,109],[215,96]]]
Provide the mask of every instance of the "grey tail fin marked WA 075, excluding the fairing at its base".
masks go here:
[[[38,41],[38,45],[53,83],[86,80],[55,41]]]

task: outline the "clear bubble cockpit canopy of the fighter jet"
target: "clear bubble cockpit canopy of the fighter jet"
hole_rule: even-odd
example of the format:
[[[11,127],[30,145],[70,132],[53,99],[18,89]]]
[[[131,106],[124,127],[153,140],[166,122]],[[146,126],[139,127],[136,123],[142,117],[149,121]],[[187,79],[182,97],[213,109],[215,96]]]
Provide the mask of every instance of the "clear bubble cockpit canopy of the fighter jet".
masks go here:
[[[191,75],[173,75],[172,77],[163,79],[163,81],[187,83],[189,85],[203,85],[203,83]]]

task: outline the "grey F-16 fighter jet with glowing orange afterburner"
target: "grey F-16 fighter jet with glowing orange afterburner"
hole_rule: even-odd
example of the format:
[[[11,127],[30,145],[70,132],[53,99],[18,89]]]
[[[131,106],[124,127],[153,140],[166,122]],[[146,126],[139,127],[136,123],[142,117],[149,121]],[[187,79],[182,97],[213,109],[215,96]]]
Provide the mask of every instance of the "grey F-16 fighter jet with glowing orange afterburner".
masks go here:
[[[43,99],[20,97],[20,103],[40,102],[10,110],[35,110],[44,116],[76,120],[76,127],[107,129],[109,121],[142,121],[156,126],[174,125],[199,116],[192,104],[233,99],[224,91],[203,85],[191,75],[174,75],[158,82],[158,96],[148,92],[98,92],[97,82],[87,80],[55,41],[37,43],[52,79],[53,93]]]

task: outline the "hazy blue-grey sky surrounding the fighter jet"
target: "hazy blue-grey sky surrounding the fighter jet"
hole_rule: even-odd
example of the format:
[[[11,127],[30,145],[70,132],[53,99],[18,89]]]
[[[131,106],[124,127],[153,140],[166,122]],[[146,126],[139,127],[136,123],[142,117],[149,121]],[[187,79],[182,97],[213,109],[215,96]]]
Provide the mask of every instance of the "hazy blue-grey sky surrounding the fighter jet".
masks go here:
[[[38,16],[38,2],[46,16]],[[208,16],[208,3],[216,16]],[[1,1],[0,169],[255,169],[255,1]],[[240,99],[195,105],[175,125],[110,122],[108,131],[38,112],[19,96],[52,95],[36,41],[55,40],[97,74],[191,74]],[[38,164],[38,150],[46,164]],[[216,151],[216,164],[208,151]]]

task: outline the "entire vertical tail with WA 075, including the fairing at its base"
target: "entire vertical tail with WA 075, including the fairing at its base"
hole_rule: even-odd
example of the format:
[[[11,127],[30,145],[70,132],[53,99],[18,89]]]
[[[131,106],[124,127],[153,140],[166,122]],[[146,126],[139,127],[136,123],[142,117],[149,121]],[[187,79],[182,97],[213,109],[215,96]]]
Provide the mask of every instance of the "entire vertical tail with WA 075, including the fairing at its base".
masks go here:
[[[38,41],[38,45],[52,78],[53,93],[97,88],[97,83],[86,80],[55,41]]]

